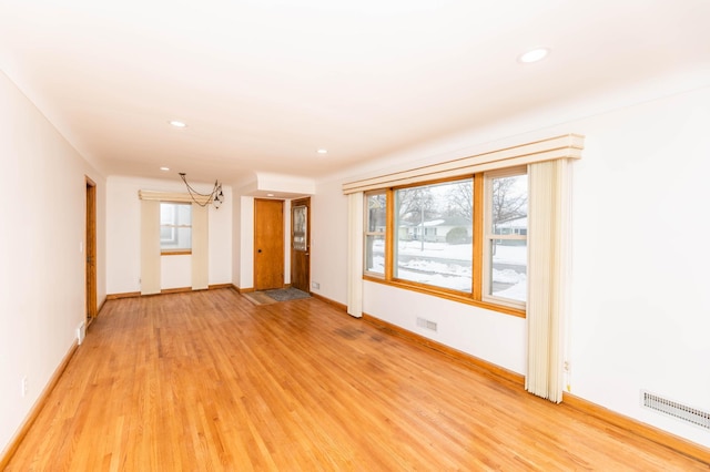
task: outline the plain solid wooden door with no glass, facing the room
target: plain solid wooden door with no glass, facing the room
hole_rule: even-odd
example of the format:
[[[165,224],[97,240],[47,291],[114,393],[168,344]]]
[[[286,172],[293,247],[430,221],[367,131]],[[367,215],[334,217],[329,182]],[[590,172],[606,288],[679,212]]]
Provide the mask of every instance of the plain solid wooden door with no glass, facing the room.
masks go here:
[[[254,289],[284,286],[284,202],[254,199]]]

